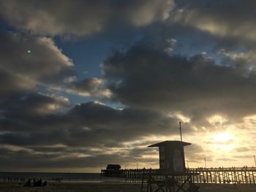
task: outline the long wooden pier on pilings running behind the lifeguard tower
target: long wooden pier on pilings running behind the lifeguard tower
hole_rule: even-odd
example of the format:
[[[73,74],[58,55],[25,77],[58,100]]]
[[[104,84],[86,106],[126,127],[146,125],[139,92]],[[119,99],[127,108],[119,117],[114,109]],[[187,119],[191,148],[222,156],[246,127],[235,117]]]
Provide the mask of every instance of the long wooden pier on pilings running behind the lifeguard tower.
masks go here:
[[[118,177],[127,179],[142,179],[143,174],[157,172],[159,169],[120,169]],[[105,169],[101,175],[105,176]],[[227,184],[256,184],[256,167],[228,167],[228,168],[195,168],[187,169],[192,174],[194,183],[227,183]],[[111,175],[108,175],[111,177]],[[116,175],[115,175],[116,177]],[[164,179],[156,176],[158,180]],[[178,181],[183,182],[187,177],[177,176]]]

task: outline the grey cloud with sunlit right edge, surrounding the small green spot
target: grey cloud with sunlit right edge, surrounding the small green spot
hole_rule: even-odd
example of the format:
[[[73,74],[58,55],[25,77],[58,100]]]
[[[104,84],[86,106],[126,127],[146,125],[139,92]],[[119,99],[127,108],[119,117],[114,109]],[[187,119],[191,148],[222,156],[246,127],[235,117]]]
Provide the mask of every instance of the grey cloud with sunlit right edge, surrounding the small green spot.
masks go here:
[[[72,75],[72,61],[61,53],[50,38],[0,31],[0,42],[1,70],[13,74],[16,79],[19,77],[30,84],[53,83]],[[28,50],[31,53],[27,53]]]

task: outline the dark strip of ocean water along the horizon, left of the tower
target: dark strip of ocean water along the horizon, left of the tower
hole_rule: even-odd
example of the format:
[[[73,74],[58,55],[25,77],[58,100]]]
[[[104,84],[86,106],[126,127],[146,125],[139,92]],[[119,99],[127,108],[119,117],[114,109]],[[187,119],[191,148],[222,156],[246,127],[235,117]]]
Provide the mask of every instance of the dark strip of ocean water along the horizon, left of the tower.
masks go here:
[[[33,179],[48,183],[121,182],[120,177],[102,177],[100,173],[0,172],[0,182],[23,183]]]

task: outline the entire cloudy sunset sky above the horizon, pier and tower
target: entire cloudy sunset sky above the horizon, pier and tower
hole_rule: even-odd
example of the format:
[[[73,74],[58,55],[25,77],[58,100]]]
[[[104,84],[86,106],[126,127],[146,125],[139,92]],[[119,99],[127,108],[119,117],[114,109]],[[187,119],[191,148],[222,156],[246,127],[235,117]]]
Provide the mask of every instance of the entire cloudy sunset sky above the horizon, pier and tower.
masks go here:
[[[256,1],[0,0],[0,171],[255,166]]]

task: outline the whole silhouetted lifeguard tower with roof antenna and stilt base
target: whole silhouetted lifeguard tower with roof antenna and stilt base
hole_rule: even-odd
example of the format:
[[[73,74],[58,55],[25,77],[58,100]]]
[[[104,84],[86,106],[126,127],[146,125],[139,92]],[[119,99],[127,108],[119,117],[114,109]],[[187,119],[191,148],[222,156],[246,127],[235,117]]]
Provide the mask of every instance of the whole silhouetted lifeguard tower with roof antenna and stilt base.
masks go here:
[[[182,135],[181,141],[164,141],[149,145],[148,147],[159,147],[159,169],[143,174],[140,191],[197,192],[199,187],[192,180],[192,175],[197,173],[187,172],[185,167],[184,146],[187,145],[191,143],[182,142]],[[147,180],[147,185],[143,185],[144,180]]]

